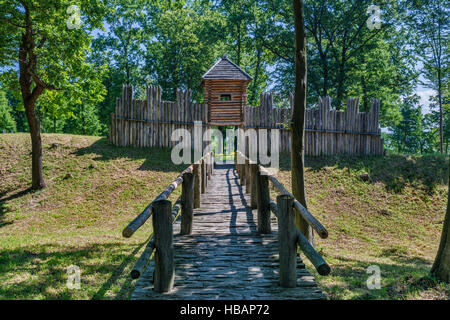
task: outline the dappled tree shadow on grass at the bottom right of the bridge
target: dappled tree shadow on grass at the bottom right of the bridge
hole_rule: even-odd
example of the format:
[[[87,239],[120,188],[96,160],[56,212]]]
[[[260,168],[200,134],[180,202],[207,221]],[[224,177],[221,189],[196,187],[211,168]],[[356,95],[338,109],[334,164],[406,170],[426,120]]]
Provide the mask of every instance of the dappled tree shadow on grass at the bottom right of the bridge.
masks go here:
[[[393,264],[378,261],[360,261],[336,257],[342,262],[332,268],[329,277],[317,276],[321,288],[330,299],[408,299],[427,292],[431,299],[449,299],[450,286],[439,282],[429,274],[431,263],[419,257],[386,255]],[[380,268],[380,289],[368,289],[374,272],[370,266]]]

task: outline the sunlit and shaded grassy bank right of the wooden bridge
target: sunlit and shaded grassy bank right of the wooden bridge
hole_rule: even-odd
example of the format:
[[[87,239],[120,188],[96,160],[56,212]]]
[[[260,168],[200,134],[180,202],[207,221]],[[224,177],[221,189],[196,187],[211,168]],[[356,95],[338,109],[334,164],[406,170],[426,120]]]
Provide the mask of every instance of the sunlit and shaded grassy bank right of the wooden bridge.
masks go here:
[[[316,245],[332,273],[320,276],[306,262],[328,298],[450,297],[450,286],[429,276],[445,214],[447,161],[407,155],[306,158],[308,208],[330,233],[327,239],[316,236]],[[362,181],[361,173],[369,173],[370,181]],[[278,179],[291,189],[288,155],[281,156]],[[367,289],[371,265],[381,270],[379,290]]]

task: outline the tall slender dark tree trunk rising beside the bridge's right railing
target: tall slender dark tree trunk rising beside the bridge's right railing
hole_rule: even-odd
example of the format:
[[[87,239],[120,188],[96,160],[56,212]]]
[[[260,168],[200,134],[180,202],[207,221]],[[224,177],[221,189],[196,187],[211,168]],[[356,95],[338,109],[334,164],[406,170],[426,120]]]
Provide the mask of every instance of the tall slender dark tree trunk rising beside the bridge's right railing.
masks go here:
[[[292,114],[292,193],[294,197],[306,208],[306,192],[304,177],[304,131],[306,110],[306,35],[303,0],[292,0],[295,24],[295,95],[294,110]],[[312,228],[296,214],[296,224],[305,237],[313,244]]]

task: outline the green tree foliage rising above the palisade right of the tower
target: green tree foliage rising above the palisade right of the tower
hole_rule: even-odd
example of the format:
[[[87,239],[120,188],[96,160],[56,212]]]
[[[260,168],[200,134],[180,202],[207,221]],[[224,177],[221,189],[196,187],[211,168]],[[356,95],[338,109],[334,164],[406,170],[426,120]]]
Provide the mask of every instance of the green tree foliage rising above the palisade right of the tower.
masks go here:
[[[406,50],[406,36],[395,27],[398,17],[394,1],[381,6],[380,29],[369,29],[367,9],[372,1],[305,1],[307,31],[308,104],[329,95],[342,108],[346,98],[382,100],[380,121],[392,125],[399,120],[400,97],[409,94],[416,79],[413,61]],[[375,4],[378,4],[377,1]],[[379,4],[381,5],[381,4]],[[291,1],[263,1],[262,41],[274,56],[277,83],[285,95],[294,85],[294,43]]]

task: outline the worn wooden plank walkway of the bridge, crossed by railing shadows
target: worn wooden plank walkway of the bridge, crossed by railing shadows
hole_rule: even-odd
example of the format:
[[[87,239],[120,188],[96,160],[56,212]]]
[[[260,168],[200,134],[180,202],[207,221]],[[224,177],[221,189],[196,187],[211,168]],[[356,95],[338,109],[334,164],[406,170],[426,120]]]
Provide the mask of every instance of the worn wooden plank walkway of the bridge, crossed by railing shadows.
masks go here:
[[[192,234],[181,236],[179,221],[174,225],[174,290],[153,291],[152,261],[131,299],[324,299],[300,260],[297,287],[279,286],[276,219],[272,234],[258,234],[257,213],[244,190],[233,165],[217,165],[194,211]]]

